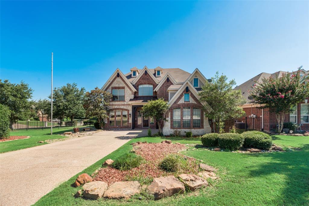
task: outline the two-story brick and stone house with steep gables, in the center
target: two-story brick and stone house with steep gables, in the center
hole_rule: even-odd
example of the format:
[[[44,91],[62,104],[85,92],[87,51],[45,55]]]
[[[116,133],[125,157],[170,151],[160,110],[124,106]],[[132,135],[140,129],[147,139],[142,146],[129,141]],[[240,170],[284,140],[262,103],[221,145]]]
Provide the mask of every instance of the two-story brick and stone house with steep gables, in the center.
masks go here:
[[[210,133],[210,123],[198,95],[205,82],[208,80],[198,69],[192,74],[179,68],[133,67],[128,74],[116,69],[101,88],[113,95],[106,127],[159,128],[154,119],[143,116],[142,106],[148,100],[163,98],[169,104],[166,121],[160,123],[164,135],[170,135],[173,129],[179,129],[182,134]]]

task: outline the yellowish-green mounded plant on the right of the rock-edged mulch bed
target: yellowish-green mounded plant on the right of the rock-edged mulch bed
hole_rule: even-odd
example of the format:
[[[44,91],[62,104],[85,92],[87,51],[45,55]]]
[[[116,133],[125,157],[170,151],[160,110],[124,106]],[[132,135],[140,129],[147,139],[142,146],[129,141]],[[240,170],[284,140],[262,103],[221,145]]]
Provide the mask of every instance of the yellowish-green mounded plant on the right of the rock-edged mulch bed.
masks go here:
[[[179,154],[169,154],[159,163],[159,167],[167,172],[178,172],[186,165],[188,165],[187,160]]]

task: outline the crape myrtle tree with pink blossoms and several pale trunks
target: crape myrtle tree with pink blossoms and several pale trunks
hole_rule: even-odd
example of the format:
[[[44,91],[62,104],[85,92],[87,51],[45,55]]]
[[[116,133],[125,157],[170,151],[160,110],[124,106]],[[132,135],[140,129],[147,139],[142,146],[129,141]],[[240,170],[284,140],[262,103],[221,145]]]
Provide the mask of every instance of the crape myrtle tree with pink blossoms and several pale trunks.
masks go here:
[[[269,108],[276,114],[278,131],[283,129],[284,117],[292,112],[292,107],[309,96],[309,84],[300,83],[300,69],[296,74],[283,74],[277,78],[263,78],[256,82],[250,90],[252,103],[260,104],[260,108]],[[308,80],[307,80],[308,81]]]

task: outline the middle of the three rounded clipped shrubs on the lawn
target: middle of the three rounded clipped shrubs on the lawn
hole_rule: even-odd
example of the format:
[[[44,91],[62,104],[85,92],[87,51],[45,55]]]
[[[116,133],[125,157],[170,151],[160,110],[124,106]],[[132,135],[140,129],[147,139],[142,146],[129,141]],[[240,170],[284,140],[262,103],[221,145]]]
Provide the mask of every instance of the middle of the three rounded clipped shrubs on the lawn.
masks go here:
[[[223,133],[218,139],[218,146],[231,150],[239,149],[243,146],[244,138],[237,133]]]

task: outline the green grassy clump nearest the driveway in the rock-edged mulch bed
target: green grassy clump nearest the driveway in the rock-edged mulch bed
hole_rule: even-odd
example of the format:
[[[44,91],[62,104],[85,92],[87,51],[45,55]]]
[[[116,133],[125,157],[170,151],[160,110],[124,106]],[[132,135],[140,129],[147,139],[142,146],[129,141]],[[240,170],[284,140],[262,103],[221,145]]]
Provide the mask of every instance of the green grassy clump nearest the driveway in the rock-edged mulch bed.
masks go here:
[[[140,166],[143,161],[144,159],[140,155],[135,153],[125,153],[112,163],[112,167],[121,171],[130,170]]]

